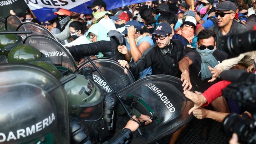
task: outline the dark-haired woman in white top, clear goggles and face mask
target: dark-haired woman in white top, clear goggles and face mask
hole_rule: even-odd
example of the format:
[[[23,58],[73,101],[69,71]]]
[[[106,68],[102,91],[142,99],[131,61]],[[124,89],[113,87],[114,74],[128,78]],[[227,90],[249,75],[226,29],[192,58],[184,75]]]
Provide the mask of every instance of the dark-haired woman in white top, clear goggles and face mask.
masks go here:
[[[69,33],[71,37],[74,39],[74,41],[64,46],[76,46],[76,45],[91,43],[86,38],[86,30],[87,30],[87,27],[82,22],[79,22],[79,21],[71,22],[69,25]]]

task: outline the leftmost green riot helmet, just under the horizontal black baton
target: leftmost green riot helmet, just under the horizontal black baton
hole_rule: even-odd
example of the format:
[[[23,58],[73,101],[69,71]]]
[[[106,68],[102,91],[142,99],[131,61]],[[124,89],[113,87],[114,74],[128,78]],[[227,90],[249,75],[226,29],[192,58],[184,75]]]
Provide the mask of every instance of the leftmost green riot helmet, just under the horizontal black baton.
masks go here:
[[[22,38],[15,34],[0,34],[0,55],[7,56],[9,51],[22,44]]]

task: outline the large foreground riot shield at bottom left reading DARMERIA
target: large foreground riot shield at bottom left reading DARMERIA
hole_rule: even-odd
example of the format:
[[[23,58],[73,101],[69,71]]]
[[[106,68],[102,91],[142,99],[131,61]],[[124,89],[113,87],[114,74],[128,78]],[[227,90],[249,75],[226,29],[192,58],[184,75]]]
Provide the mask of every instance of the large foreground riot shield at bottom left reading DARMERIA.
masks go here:
[[[0,143],[69,143],[67,96],[48,71],[0,65]]]

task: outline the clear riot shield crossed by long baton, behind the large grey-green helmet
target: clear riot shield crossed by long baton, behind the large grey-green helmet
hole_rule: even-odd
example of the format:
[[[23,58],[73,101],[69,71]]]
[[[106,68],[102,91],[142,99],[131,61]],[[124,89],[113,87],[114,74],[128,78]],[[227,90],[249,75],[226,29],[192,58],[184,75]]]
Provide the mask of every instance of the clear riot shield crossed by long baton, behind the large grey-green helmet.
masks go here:
[[[123,67],[119,65],[117,60],[112,58],[95,58],[92,59],[94,64],[101,71],[106,80],[110,83],[110,85],[115,89],[115,91],[119,91],[128,85],[132,84],[135,80],[133,74],[129,69],[127,69],[127,73],[124,73]],[[80,73],[83,67],[92,67],[94,68],[89,61],[83,63],[75,73]],[[106,82],[102,79],[99,73],[95,70],[93,72],[93,81],[98,83],[102,89],[104,89],[107,93],[111,92],[110,87],[106,84]]]

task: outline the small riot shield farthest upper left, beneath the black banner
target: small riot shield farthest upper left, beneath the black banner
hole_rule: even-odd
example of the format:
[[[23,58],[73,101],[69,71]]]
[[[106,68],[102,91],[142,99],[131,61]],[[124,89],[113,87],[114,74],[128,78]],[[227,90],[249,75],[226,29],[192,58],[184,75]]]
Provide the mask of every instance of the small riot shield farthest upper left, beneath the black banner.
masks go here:
[[[16,15],[10,15],[6,18],[5,29],[8,31],[16,31],[17,27],[21,24],[21,20],[19,20]]]

